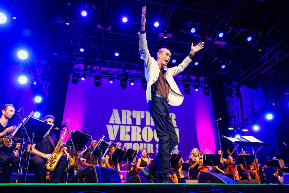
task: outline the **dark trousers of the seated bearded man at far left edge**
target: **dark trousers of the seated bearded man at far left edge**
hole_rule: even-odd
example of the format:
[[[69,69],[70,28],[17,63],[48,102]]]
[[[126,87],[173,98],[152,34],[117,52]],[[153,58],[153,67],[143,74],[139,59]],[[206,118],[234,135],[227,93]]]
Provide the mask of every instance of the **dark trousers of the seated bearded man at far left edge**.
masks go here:
[[[14,154],[1,152],[0,153],[0,167],[9,166],[0,173],[0,182],[5,181],[13,172],[17,172],[20,157]],[[21,158],[21,167],[24,165],[25,160]]]

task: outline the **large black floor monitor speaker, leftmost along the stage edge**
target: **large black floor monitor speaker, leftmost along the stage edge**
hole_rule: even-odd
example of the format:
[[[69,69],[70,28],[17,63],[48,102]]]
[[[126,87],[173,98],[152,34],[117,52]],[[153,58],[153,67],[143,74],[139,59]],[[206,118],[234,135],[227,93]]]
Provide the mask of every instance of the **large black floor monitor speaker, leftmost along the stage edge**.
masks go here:
[[[69,183],[121,183],[117,169],[88,166],[80,170]]]

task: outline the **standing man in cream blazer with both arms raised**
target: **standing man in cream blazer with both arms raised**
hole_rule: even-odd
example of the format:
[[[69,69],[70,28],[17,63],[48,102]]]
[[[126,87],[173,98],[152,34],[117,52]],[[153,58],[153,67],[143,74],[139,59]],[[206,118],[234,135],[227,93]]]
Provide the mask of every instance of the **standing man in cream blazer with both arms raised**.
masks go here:
[[[157,171],[157,183],[173,183],[167,175],[169,171],[169,153],[178,143],[178,137],[169,116],[169,105],[179,106],[182,104],[184,96],[172,77],[182,72],[191,63],[194,54],[204,48],[204,44],[199,43],[197,46],[193,46],[192,43],[191,52],[181,64],[173,68],[166,68],[171,58],[169,49],[159,49],[157,60],[151,57],[148,51],[145,14],[146,6],[142,8],[139,52],[144,60],[144,74],[147,80],[146,100],[159,138],[159,150],[151,164],[141,169],[141,173],[150,182],[155,182]]]

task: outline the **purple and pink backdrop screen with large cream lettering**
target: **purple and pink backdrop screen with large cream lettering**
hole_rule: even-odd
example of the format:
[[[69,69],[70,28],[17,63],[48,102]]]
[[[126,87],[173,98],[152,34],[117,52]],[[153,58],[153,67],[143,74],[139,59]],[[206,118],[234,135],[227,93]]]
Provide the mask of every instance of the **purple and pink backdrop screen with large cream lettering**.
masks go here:
[[[151,157],[154,157],[157,135],[141,83],[135,82],[132,86],[128,82],[126,89],[122,89],[119,80],[110,84],[108,79],[103,78],[99,87],[95,87],[93,80],[87,77],[76,85],[70,81],[63,122],[70,119],[71,130],[84,131],[76,125],[84,126],[93,139],[98,140],[105,135],[105,141],[116,139],[121,147],[125,145],[137,150],[147,148]],[[183,90],[182,87],[180,90]],[[176,150],[185,159],[193,147],[202,146],[205,138],[203,152],[215,153],[218,140],[211,97],[192,88],[191,94],[184,96],[181,106],[170,106],[179,136]]]

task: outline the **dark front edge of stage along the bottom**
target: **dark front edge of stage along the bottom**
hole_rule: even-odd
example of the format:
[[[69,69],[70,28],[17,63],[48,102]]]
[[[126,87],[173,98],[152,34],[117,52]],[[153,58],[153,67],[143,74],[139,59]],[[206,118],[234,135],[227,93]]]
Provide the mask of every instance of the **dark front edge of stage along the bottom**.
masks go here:
[[[289,185],[259,185],[259,184],[147,184],[147,183],[68,183],[68,184],[0,184],[1,192],[39,192],[39,193],[76,193],[76,192],[106,192],[106,193],[139,193],[139,192],[241,192],[268,193],[289,192]],[[214,191],[216,190],[216,191]],[[218,191],[219,190],[219,191]]]

